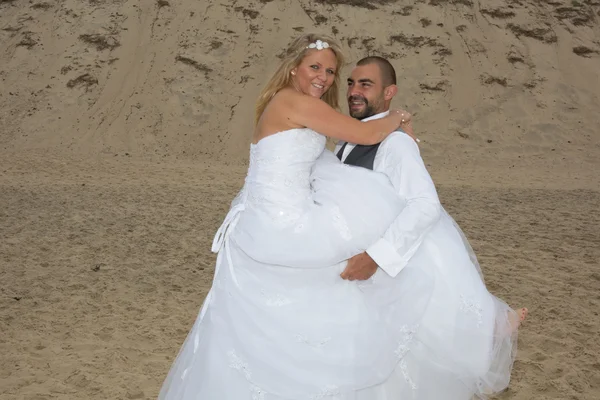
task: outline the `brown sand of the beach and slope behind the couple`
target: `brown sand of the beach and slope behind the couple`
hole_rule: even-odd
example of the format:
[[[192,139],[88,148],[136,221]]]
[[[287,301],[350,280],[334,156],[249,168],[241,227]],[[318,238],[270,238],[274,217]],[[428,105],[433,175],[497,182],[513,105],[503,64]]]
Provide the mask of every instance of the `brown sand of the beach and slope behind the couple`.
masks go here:
[[[210,287],[256,95],[301,31],[391,59],[490,290],[530,308],[498,398],[600,398],[599,13],[0,0],[0,398],[156,398]]]

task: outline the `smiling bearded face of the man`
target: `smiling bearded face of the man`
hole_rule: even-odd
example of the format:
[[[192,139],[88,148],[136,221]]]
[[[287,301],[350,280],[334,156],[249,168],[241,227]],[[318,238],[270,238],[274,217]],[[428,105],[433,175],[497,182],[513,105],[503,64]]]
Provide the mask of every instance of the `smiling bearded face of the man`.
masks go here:
[[[348,110],[357,119],[385,111],[384,87],[377,64],[357,66],[348,78]]]

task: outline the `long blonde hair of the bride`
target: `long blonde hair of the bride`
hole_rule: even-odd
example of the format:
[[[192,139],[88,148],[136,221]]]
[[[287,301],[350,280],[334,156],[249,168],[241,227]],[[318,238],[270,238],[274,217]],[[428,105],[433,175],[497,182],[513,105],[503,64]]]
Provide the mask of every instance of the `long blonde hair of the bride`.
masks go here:
[[[321,99],[331,107],[339,109],[338,90],[340,86],[340,70],[344,65],[344,55],[342,54],[340,45],[335,39],[328,35],[306,33],[298,36],[289,44],[281,59],[281,64],[279,64],[279,67],[271,79],[269,79],[263,90],[260,92],[256,102],[256,111],[254,115],[255,125],[258,125],[258,121],[260,120],[262,113],[265,111],[265,108],[267,108],[267,105],[273,96],[275,96],[281,89],[291,84],[292,70],[300,65],[306,56],[306,53],[309,50],[307,48],[308,45],[316,42],[317,40],[327,42],[329,44],[329,49],[333,51],[335,58],[337,59],[337,68],[335,69],[335,78],[333,80],[333,84],[329,90],[325,92]]]

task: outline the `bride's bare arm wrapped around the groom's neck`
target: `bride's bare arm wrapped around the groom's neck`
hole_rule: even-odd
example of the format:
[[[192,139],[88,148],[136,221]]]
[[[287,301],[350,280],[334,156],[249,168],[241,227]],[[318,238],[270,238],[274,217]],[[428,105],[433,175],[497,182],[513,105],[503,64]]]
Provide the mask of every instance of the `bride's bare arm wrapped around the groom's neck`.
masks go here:
[[[371,145],[381,142],[395,131],[403,120],[399,110],[385,118],[360,122],[346,116],[323,100],[289,91],[285,93],[286,108],[290,122],[305,126],[322,135],[355,144]]]

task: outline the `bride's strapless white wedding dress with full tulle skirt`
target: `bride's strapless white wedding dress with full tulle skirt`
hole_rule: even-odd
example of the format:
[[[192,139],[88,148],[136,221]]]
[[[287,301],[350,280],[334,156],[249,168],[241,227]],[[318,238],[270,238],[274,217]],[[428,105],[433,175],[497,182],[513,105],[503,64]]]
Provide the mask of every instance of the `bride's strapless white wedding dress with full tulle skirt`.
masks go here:
[[[508,385],[514,317],[443,213],[407,267],[339,274],[404,204],[387,178],[291,129],[251,145],[213,286],[163,400],[468,400]]]

